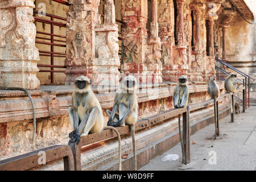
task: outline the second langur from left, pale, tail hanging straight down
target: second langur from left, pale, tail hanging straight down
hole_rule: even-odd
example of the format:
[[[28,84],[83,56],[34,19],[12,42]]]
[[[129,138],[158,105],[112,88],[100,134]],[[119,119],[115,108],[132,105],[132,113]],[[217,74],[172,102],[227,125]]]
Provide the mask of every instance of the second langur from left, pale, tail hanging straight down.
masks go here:
[[[130,126],[133,139],[134,169],[137,170],[136,141],[134,125],[138,120],[138,101],[136,96],[137,81],[134,76],[123,78],[114,98],[112,112],[106,110],[109,116],[108,126]]]

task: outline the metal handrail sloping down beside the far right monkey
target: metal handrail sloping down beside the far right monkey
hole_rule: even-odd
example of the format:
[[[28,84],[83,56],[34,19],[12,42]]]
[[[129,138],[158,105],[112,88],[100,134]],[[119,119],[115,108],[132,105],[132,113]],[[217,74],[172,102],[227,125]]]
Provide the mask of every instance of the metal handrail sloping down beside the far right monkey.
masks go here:
[[[218,61],[219,63],[225,65],[226,67],[232,69],[234,72],[236,72],[236,73],[238,73],[238,74],[240,74],[241,76],[244,77],[243,80],[240,80],[240,79],[238,79],[238,78],[237,78],[237,80],[240,82],[240,84],[242,84],[243,86],[245,86],[245,109],[247,109],[247,106],[250,107],[250,76],[247,75],[246,73],[241,72],[240,70],[238,70],[237,68],[233,67],[232,65],[230,65],[230,64],[228,64],[228,63],[225,63],[224,61],[218,59],[217,57],[215,57],[215,60]],[[217,67],[217,66],[215,66],[215,68],[216,68],[218,71],[224,73],[224,75],[229,76],[229,73],[226,72],[224,69],[221,69],[220,67]],[[218,74],[216,74],[216,76],[217,76],[218,78],[220,78],[220,80],[225,80],[224,77],[222,77],[222,76],[220,76],[220,75],[218,75]],[[239,97],[237,97],[237,96],[235,96],[235,97],[238,98],[239,100],[242,100],[241,98],[239,98]]]

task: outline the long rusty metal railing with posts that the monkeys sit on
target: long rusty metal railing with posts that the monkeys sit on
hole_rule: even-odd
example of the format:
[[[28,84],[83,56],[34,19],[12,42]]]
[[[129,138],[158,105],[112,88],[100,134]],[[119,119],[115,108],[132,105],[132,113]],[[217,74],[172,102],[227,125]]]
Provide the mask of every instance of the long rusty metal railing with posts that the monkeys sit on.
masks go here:
[[[237,92],[243,93],[243,112],[245,113],[245,86],[236,90]],[[180,137],[181,142],[181,151],[182,151],[182,163],[188,164],[190,162],[190,142],[189,142],[189,114],[191,111],[203,109],[204,107],[209,107],[214,105],[214,123],[215,123],[215,138],[220,135],[220,126],[219,126],[219,113],[218,113],[218,102],[223,100],[224,98],[231,96],[231,107],[232,112],[230,113],[230,122],[234,122],[234,94],[235,93],[226,93],[219,98],[217,98],[216,102],[213,99],[188,105],[187,107],[180,109],[171,109],[168,111],[164,111],[162,113],[152,115],[149,118],[142,119],[135,123],[135,131],[146,129],[157,123],[169,121],[168,119],[179,117],[179,126],[180,126],[180,115],[183,115],[183,131],[182,131],[182,139]],[[117,127],[120,135],[129,134],[130,127],[123,126]],[[181,136],[181,135],[180,135]],[[38,151],[33,151],[28,154],[23,154],[16,156],[14,158],[9,158],[6,160],[0,161],[0,171],[1,170],[26,170],[36,166],[35,162],[38,160],[39,156],[37,155],[39,151],[46,151],[47,162],[64,158],[64,169],[65,170],[81,170],[81,148],[85,145],[102,142],[103,140],[108,140],[117,137],[117,134],[113,130],[104,130],[100,133],[93,133],[81,137],[80,143],[75,144],[74,142],[68,143],[67,146],[53,146],[47,147]],[[65,149],[65,150],[64,150]],[[22,164],[22,165],[20,165]]]

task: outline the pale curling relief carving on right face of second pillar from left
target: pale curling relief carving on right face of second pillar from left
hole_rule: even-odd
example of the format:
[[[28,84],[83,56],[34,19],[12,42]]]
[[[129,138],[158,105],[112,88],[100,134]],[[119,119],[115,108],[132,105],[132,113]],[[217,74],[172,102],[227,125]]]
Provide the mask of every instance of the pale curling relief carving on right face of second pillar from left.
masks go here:
[[[119,45],[118,45],[118,32],[110,31],[107,33],[106,44],[109,47],[112,57],[118,57]]]

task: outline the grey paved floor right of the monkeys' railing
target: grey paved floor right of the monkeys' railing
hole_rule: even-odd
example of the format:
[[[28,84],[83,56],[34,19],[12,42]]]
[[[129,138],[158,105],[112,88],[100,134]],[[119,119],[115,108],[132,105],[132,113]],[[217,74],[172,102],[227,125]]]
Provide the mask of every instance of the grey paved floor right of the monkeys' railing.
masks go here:
[[[220,133],[220,138],[212,140],[214,124],[211,124],[193,134],[191,136],[191,163],[187,166],[181,165],[181,147],[180,143],[177,143],[176,146],[152,159],[140,170],[256,171],[256,106],[251,106],[246,113],[235,114],[234,123],[230,123],[230,114],[221,119]],[[209,152],[213,155],[209,155]],[[168,154],[177,154],[179,159],[162,162],[164,156]],[[214,156],[216,156],[216,161]]]

